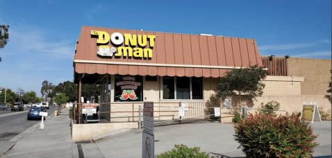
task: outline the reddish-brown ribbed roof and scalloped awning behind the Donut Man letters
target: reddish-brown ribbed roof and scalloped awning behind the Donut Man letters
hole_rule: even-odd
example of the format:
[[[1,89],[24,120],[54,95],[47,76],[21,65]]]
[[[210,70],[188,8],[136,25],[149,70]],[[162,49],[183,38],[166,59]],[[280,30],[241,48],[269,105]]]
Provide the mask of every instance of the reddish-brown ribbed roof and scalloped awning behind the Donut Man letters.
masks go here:
[[[131,35],[156,35],[155,46],[149,48],[152,58],[103,57],[97,55],[100,44],[91,30]],[[115,46],[112,42],[106,45]],[[122,44],[124,46],[124,44]],[[119,74],[140,76],[221,77],[227,69],[263,66],[256,41],[235,37],[157,33],[83,26],[74,55],[74,73]]]

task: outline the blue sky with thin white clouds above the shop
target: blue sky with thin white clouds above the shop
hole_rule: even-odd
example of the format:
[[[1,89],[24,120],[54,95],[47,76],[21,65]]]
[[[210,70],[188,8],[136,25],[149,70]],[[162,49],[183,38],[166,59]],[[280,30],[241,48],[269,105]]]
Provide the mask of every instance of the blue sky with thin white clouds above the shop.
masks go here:
[[[300,2],[300,3],[299,3]],[[331,1],[0,0],[0,87],[73,80],[82,26],[254,38],[260,55],[331,59]]]

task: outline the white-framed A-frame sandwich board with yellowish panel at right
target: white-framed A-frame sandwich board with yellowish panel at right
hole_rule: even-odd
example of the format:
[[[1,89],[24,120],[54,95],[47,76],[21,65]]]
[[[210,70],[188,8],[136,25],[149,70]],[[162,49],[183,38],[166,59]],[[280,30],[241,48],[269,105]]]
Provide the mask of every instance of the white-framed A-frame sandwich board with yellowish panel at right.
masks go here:
[[[322,122],[316,102],[308,102],[308,103],[304,102],[302,103],[302,105],[303,107],[302,107],[301,117],[304,117],[305,121],[308,121],[310,123],[313,123],[313,121]]]

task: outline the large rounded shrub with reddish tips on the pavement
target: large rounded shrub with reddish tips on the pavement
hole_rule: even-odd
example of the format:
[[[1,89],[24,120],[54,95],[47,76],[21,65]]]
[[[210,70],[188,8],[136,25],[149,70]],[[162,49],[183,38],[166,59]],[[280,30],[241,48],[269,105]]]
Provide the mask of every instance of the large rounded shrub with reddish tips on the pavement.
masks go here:
[[[249,114],[236,123],[235,141],[247,157],[311,157],[318,135],[299,116]]]

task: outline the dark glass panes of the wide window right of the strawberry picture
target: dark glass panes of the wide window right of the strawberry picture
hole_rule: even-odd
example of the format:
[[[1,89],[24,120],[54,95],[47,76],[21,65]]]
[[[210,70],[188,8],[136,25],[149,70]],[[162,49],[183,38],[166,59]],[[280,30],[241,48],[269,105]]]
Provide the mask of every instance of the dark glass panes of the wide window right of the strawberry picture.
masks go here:
[[[190,91],[192,92],[191,97]],[[203,99],[202,78],[193,77],[190,80],[188,77],[163,77],[163,99],[174,98]]]

